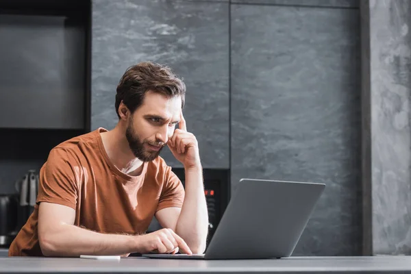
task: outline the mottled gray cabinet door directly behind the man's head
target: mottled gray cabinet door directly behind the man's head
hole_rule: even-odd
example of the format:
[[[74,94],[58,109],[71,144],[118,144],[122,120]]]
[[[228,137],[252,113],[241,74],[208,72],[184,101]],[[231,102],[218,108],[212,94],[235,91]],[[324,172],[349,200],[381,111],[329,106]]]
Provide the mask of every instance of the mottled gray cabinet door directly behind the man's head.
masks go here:
[[[92,129],[112,129],[116,85],[128,66],[167,64],[187,86],[184,116],[204,167],[229,167],[228,2],[92,3]],[[181,167],[169,149],[162,157]]]

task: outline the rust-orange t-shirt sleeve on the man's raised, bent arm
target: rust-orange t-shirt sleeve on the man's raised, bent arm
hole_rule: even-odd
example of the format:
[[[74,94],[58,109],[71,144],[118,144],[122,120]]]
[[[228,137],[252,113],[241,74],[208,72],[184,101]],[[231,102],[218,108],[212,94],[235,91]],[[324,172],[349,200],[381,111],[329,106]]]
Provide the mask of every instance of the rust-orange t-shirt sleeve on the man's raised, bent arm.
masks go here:
[[[183,201],[183,184],[177,175],[171,171],[171,167],[166,166],[164,173],[164,184],[156,212],[164,208],[182,208]]]

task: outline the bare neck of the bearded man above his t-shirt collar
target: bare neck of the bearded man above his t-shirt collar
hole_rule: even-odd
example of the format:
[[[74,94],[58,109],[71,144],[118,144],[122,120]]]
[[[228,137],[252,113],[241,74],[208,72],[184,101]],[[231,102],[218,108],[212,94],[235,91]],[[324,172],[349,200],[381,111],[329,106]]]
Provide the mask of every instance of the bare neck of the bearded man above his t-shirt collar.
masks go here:
[[[108,158],[119,171],[130,176],[141,174],[143,162],[134,156],[124,132],[118,126],[100,135]]]

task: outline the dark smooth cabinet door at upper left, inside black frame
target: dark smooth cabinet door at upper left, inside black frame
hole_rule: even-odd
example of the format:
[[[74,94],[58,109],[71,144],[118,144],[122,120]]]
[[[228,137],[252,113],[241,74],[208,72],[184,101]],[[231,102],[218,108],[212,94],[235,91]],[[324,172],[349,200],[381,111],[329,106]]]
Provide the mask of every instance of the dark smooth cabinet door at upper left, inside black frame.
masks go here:
[[[86,19],[64,12],[0,15],[0,127],[84,129]]]

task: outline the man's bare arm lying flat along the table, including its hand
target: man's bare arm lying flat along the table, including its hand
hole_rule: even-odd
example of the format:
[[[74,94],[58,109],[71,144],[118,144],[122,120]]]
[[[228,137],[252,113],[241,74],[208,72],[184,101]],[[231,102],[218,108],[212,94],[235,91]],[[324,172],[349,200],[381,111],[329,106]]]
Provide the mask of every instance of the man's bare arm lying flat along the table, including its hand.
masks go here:
[[[175,247],[190,253],[184,240],[171,229],[162,229],[142,236],[101,234],[73,225],[74,220],[73,208],[55,203],[40,203],[38,239],[43,255],[79,257],[148,253],[153,250],[167,253]]]

